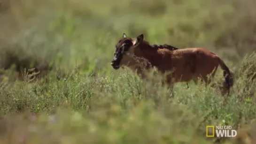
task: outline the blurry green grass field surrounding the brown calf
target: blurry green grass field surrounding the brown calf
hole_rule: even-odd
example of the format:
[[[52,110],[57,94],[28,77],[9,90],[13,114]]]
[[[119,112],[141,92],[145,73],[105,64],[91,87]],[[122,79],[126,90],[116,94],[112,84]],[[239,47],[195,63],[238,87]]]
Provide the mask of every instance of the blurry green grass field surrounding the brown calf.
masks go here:
[[[0,0],[0,144],[254,144],[255,15],[255,0]],[[227,103],[193,82],[170,102],[160,75],[114,70],[123,33],[217,53],[235,75]]]

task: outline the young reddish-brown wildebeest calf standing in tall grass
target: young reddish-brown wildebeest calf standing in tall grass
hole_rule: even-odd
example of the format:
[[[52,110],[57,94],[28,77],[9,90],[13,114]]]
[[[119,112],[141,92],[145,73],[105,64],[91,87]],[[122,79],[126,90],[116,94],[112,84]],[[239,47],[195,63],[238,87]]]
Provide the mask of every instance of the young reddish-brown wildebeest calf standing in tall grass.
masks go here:
[[[220,65],[225,77],[222,94],[229,94],[233,86],[233,74],[217,54],[203,48],[178,49],[171,45],[149,45],[143,38],[143,34],[137,38],[128,38],[124,33],[117,42],[111,66],[114,69],[127,66],[143,78],[144,70],[153,67],[163,73],[172,71],[167,75],[166,83],[173,88],[173,83],[190,80],[197,83],[198,78],[207,85],[210,82],[207,75],[212,74],[213,77]]]

